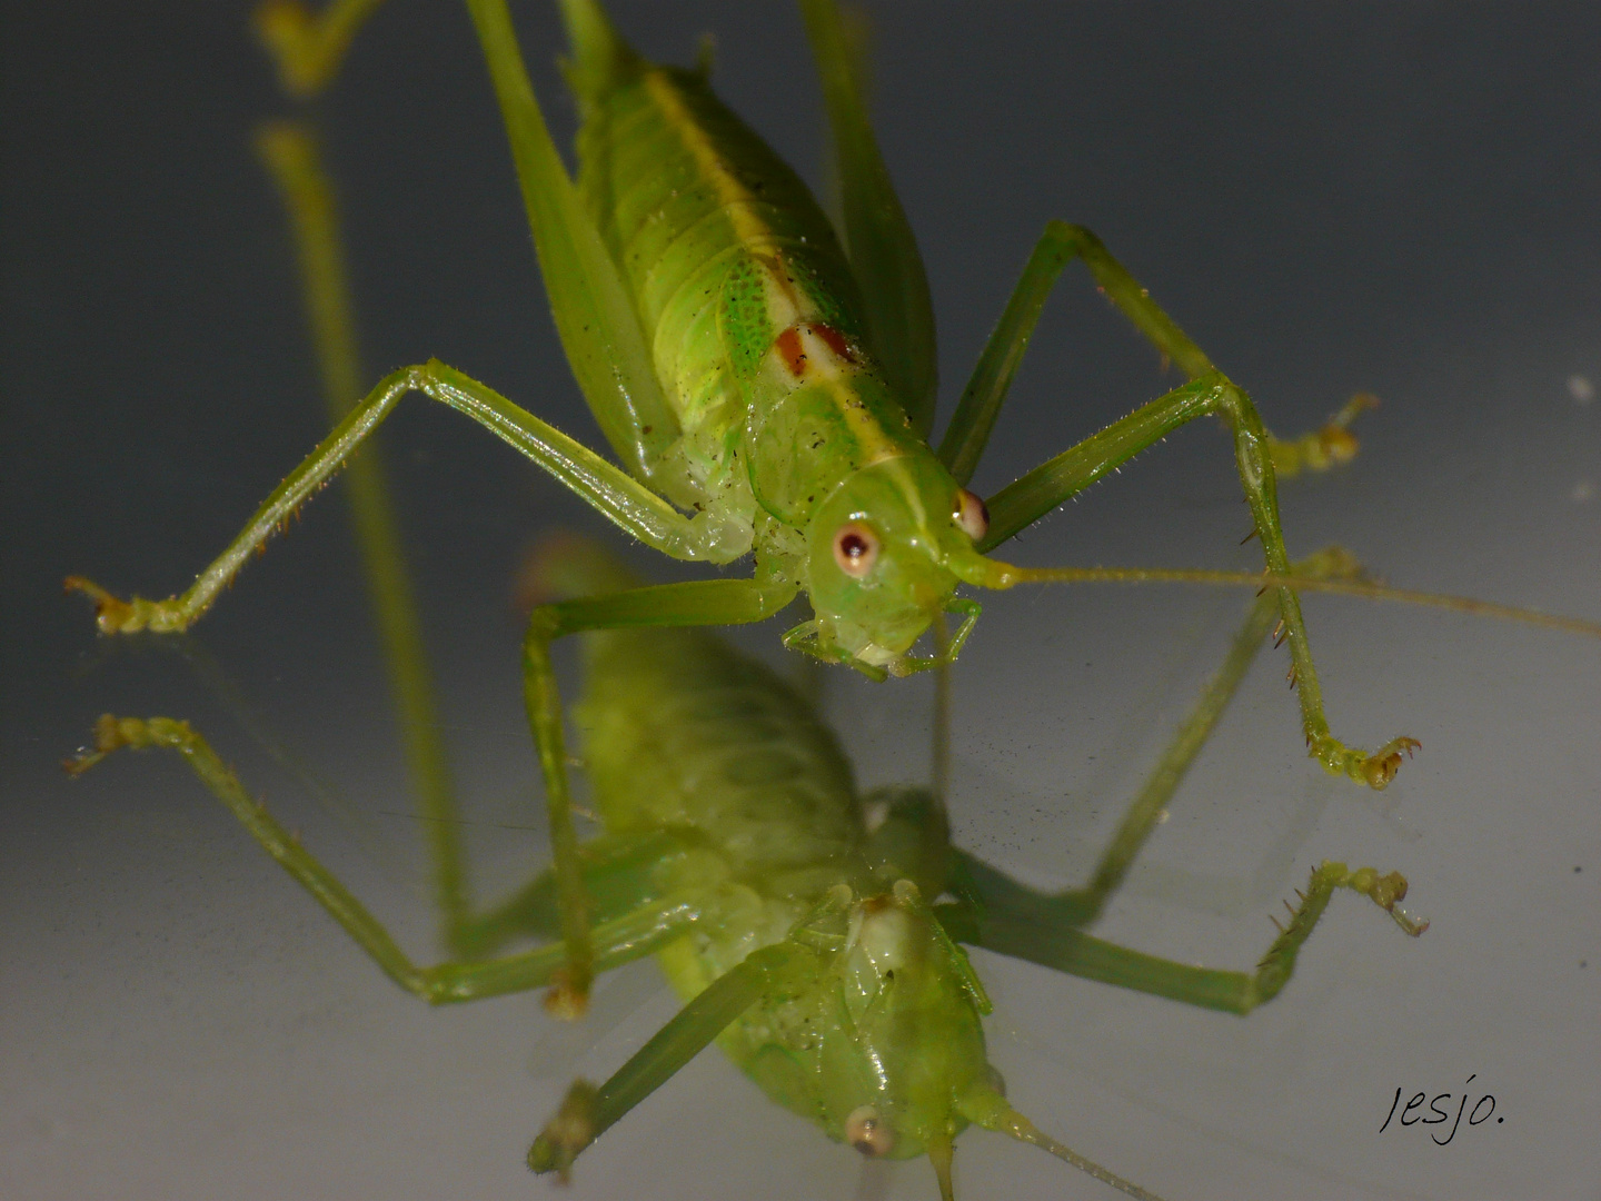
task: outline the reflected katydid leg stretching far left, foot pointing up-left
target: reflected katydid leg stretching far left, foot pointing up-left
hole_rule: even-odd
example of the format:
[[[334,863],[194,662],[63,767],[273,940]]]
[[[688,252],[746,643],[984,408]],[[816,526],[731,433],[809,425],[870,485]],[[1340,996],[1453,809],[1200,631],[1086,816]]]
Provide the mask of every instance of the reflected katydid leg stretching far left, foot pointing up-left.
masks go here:
[[[72,775],[80,775],[123,746],[167,748],[181,754],[263,850],[299,881],[384,974],[429,1004],[522,993],[549,985],[560,975],[567,961],[567,950],[560,943],[479,962],[445,961],[429,967],[413,964],[367,906],[307,852],[264,804],[245,791],[232,769],[191,729],[189,722],[106,714],[94,725],[94,749],[69,761],[66,767]],[[596,948],[594,970],[620,967],[682,937],[700,916],[700,905],[701,898],[693,894],[660,897],[597,926],[591,932]]]

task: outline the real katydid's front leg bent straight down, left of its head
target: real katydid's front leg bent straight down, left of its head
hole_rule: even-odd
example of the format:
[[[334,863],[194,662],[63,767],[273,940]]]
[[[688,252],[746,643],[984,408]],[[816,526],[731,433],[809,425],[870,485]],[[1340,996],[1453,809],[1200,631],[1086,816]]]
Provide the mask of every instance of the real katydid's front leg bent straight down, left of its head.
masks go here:
[[[544,770],[544,799],[551,823],[551,854],[562,908],[562,940],[567,967],[546,998],[560,1017],[583,1014],[594,975],[589,948],[588,898],[573,829],[572,793],[567,785],[567,738],[562,698],[551,666],[551,642],[586,629],[644,626],[733,626],[762,621],[794,599],[796,586],[760,580],[695,580],[680,584],[634,588],[612,596],[540,605],[528,617],[522,642],[524,698],[528,724]]]

